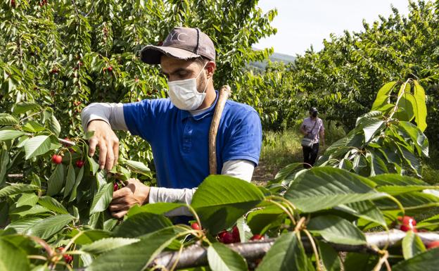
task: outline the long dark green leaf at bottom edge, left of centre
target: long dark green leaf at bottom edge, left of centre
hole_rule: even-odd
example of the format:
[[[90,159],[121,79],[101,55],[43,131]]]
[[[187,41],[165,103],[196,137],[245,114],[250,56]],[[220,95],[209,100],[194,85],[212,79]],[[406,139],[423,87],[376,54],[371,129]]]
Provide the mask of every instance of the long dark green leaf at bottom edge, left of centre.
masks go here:
[[[151,263],[176,237],[174,229],[167,228],[143,237],[141,241],[121,246],[98,256],[87,271],[141,271]]]

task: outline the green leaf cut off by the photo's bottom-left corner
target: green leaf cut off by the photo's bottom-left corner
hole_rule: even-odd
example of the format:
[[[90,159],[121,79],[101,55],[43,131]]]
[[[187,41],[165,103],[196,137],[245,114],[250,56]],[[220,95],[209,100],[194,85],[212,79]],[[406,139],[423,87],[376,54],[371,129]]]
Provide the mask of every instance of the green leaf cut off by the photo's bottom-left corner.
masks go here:
[[[29,260],[24,251],[6,240],[0,239],[0,270],[28,271]]]

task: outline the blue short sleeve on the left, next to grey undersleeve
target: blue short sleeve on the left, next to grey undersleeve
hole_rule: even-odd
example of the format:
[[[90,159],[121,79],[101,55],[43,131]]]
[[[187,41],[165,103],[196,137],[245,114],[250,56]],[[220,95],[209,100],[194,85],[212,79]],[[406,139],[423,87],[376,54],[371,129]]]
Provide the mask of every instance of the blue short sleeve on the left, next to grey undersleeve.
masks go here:
[[[152,132],[161,112],[166,111],[165,99],[143,100],[136,103],[124,103],[123,112],[129,132],[151,141]]]

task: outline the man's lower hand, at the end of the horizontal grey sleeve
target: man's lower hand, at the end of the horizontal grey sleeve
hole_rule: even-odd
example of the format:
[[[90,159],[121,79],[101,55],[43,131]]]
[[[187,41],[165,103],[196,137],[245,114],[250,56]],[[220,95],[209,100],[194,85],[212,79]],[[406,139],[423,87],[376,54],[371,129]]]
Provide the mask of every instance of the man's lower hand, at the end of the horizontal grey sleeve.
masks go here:
[[[111,215],[117,219],[123,218],[132,206],[148,203],[149,187],[142,184],[139,179],[127,179],[127,183],[126,187],[113,193],[113,201],[108,207]]]

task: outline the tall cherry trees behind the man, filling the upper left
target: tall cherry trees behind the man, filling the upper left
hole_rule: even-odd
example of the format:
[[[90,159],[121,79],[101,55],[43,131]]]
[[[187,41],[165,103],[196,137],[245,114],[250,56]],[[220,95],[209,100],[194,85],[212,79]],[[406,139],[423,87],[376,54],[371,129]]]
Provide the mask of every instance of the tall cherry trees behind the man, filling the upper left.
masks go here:
[[[246,63],[268,58],[272,50],[251,48],[276,32],[269,25],[276,11],[262,13],[257,1],[13,2],[0,2],[0,125],[23,125],[25,132],[45,127],[61,138],[80,137],[79,113],[87,103],[166,97],[165,77],[142,63],[139,51],[163,41],[173,27],[199,27],[212,38],[217,88],[234,88]],[[0,139],[22,133],[0,131]],[[152,168],[148,143],[119,136],[122,157],[149,165],[129,167],[143,173]],[[53,142],[48,134],[23,142],[26,158],[57,149],[49,147]],[[143,179],[155,182],[151,172]]]

